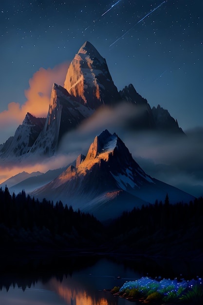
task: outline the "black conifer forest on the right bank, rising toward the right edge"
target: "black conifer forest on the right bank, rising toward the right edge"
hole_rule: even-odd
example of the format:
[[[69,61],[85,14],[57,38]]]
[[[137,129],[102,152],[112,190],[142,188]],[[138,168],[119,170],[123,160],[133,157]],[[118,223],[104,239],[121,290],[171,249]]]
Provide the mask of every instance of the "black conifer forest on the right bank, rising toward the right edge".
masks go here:
[[[108,229],[112,250],[203,260],[202,197],[170,204],[166,194],[165,202],[123,212]]]

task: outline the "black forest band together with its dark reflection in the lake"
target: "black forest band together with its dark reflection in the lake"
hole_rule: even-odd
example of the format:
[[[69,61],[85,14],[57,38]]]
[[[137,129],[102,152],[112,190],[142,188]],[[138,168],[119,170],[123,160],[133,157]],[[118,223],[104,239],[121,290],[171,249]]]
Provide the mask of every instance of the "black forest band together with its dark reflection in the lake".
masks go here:
[[[107,256],[132,265],[151,262],[151,267],[158,264],[165,270],[172,264],[179,274],[201,276],[202,232],[202,197],[175,205],[166,197],[164,203],[125,212],[102,224],[61,202],[53,205],[23,191],[11,196],[8,189],[0,189],[1,270],[27,264],[54,268],[59,258]]]

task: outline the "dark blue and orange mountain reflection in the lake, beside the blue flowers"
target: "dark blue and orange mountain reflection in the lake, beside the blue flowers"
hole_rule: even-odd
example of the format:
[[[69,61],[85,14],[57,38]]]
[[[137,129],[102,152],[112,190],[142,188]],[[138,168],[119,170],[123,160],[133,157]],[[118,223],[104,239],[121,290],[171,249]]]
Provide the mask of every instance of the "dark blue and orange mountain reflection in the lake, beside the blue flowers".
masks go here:
[[[118,275],[121,279],[118,279]],[[55,291],[69,305],[117,305],[118,298],[103,290],[120,286],[127,280],[141,276],[142,274],[122,264],[101,259],[94,266],[75,272],[71,276],[64,276],[61,281],[51,278],[45,287]],[[119,304],[124,303],[119,301]]]

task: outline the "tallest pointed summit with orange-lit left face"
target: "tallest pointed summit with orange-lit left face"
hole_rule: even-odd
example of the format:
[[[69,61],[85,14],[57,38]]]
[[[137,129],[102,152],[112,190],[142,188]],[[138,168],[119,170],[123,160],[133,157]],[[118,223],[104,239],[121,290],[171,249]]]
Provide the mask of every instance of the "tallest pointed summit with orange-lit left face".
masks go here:
[[[64,88],[91,109],[120,100],[105,58],[89,41],[83,44],[72,60]]]

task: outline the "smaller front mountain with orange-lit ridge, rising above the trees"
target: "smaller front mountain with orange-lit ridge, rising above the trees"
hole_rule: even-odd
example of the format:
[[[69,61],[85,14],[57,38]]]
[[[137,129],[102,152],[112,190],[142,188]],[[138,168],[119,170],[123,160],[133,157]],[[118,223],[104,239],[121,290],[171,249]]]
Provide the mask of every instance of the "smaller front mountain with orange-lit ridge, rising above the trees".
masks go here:
[[[59,201],[93,213],[100,220],[124,210],[164,201],[189,202],[194,197],[146,174],[116,133],[103,131],[94,138],[86,157],[79,156],[53,181],[32,192],[39,199]]]

